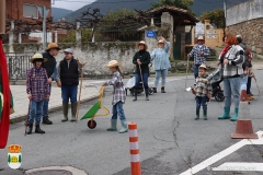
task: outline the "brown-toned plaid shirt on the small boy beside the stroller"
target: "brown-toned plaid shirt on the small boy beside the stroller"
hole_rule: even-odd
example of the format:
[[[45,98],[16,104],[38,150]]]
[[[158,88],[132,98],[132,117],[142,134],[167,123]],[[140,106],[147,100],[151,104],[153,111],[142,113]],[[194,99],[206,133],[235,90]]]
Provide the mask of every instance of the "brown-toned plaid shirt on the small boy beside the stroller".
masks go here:
[[[211,83],[205,77],[196,78],[196,85],[195,85],[195,95],[196,96],[207,96],[211,94]]]

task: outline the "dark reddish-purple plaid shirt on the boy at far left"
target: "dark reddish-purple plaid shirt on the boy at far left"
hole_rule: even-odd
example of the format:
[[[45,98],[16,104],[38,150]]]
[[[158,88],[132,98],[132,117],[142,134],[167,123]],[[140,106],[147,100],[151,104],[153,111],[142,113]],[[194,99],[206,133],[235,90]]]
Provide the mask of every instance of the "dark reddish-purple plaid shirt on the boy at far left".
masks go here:
[[[32,101],[41,102],[50,95],[47,72],[44,68],[31,68],[26,73],[26,93],[32,95]]]

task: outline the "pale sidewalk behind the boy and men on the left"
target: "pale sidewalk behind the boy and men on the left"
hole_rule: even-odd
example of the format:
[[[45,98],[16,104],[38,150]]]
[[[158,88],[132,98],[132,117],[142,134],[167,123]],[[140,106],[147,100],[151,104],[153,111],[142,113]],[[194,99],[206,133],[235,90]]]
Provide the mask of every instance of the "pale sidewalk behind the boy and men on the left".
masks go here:
[[[10,120],[20,121],[27,115],[28,98],[25,93],[25,85],[10,85],[13,101],[14,101],[14,114],[10,116]],[[100,86],[83,82],[81,91],[81,103],[91,101],[98,97]],[[79,90],[78,90],[79,91]],[[78,92],[79,98],[79,92]],[[52,95],[49,100],[49,112],[60,109],[62,107],[61,89],[52,86]]]

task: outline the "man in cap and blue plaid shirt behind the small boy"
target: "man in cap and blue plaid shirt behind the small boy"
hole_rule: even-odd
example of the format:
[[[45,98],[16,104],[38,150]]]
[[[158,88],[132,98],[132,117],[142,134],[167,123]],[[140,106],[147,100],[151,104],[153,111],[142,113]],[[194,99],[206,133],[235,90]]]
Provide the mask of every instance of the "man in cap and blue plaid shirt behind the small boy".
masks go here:
[[[198,77],[198,67],[202,63],[206,63],[206,58],[210,56],[210,50],[207,46],[204,45],[204,43],[205,43],[204,36],[198,36],[197,45],[195,45],[191,52],[187,55],[188,57],[194,57],[195,79]]]

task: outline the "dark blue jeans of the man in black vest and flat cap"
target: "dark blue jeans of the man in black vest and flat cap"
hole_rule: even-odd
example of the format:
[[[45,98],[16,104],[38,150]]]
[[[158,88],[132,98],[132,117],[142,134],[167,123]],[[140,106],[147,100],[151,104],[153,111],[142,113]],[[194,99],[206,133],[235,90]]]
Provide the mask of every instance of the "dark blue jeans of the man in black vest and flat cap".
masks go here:
[[[62,103],[68,103],[69,98],[71,103],[77,103],[78,85],[61,85]]]

